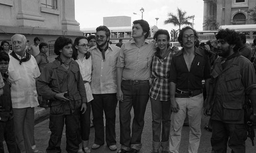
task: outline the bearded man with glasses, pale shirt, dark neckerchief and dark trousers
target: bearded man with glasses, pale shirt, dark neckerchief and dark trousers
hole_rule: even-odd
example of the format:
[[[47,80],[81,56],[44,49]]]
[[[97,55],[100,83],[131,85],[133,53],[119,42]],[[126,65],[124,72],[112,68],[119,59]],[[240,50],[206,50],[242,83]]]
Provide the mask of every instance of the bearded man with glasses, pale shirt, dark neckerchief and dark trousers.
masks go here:
[[[92,149],[98,149],[104,144],[105,113],[105,140],[110,150],[116,150],[116,62],[120,48],[111,46],[110,30],[106,26],[96,28],[96,43],[89,49],[92,54],[92,81],[93,94],[92,112],[95,128],[95,140]]]

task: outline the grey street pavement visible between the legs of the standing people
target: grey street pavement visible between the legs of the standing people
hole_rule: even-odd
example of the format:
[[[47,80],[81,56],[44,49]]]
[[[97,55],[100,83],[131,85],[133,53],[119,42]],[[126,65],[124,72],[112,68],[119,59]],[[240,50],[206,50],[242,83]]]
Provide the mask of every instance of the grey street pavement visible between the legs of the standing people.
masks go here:
[[[132,119],[133,119],[133,110],[131,111]],[[117,140],[117,147],[120,148],[119,140],[120,140],[120,126],[119,126],[119,107],[117,105],[116,109],[116,140]],[[204,129],[204,126],[207,125],[209,117],[202,116],[202,122],[201,122],[201,130],[202,130],[202,136],[201,136],[201,142],[199,146],[199,153],[205,153],[205,152],[211,152],[211,145],[210,145],[210,137],[211,133]],[[147,103],[146,113],[145,113],[145,125],[142,133],[142,148],[140,149],[139,153],[150,153],[152,149],[152,115],[151,115],[151,104],[150,101]],[[91,134],[90,134],[90,144],[91,147],[94,142],[94,133],[95,130],[92,127],[91,128]],[[50,138],[50,130],[49,130],[49,119],[42,121],[35,125],[35,141],[36,146],[39,150],[44,150],[46,152],[46,148],[48,146],[48,141]],[[187,153],[188,149],[188,136],[189,136],[189,127],[183,126],[182,129],[182,137],[181,137],[181,143],[180,143],[180,153]],[[256,144],[256,141],[255,141]],[[6,147],[5,147],[6,148]],[[61,149],[62,152],[66,151],[66,136],[65,136],[65,129],[63,130],[62,135],[62,141],[61,141]],[[6,152],[7,148],[6,148]],[[113,153],[117,151],[111,151],[106,144],[101,146],[99,149],[91,151],[92,153]],[[228,149],[227,152],[231,152],[230,149]],[[246,153],[253,153],[256,152],[256,147],[251,145],[251,141],[248,138],[246,140]]]

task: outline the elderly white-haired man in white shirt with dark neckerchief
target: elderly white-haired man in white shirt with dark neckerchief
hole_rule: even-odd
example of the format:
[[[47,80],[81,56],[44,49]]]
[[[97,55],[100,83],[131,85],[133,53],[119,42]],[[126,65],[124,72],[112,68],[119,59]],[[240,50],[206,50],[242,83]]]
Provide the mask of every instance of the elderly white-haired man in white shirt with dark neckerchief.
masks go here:
[[[40,72],[33,56],[25,52],[27,39],[22,34],[11,38],[13,52],[8,68],[14,113],[16,142],[20,152],[40,152],[34,140],[34,107],[38,106],[36,79]]]

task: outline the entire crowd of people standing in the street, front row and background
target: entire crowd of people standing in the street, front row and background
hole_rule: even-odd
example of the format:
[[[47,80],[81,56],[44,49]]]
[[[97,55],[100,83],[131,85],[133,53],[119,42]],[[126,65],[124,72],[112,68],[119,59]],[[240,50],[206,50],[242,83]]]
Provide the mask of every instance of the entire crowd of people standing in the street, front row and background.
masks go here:
[[[178,50],[169,44],[175,32],[170,36],[159,29],[156,43],[147,40],[149,32],[147,21],[141,19],[133,21],[133,38],[124,43],[119,39],[116,46],[111,45],[106,26],[74,42],[60,36],[52,62],[48,44],[39,37],[31,46],[22,34],[14,34],[10,43],[2,41],[0,152],[4,152],[3,140],[9,152],[44,152],[37,149],[34,138],[37,106],[50,108],[47,152],[61,152],[64,125],[67,152],[90,153],[105,142],[115,151],[119,102],[118,153],[136,153],[142,147],[150,99],[153,153],[179,152],[186,118],[188,152],[198,152],[203,109],[211,116],[205,129],[212,132],[212,152],[226,152],[228,146],[234,153],[245,153],[247,99],[254,108],[250,119],[256,119],[256,39],[250,46],[244,34],[226,29],[200,44],[196,30],[184,27],[177,34],[182,46]],[[89,140],[92,126],[95,136]],[[94,142],[91,147],[89,141]]]

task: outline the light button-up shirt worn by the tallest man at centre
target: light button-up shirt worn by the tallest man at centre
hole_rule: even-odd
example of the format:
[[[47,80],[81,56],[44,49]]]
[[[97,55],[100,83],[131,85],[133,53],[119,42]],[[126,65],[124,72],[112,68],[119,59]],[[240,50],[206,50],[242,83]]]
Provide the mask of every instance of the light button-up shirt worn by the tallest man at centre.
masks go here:
[[[144,41],[138,47],[132,39],[123,43],[117,59],[117,68],[123,68],[123,80],[149,80],[152,57],[156,52],[155,43]]]

